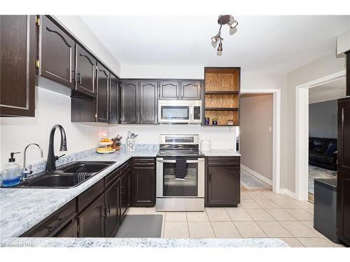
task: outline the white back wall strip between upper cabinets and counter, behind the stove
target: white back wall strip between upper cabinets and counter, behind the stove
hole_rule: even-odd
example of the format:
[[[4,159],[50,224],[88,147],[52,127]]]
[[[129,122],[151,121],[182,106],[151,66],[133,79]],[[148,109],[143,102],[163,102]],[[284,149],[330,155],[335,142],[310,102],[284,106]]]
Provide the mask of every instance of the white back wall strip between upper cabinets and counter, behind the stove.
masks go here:
[[[127,131],[137,133],[136,143],[141,144],[159,144],[159,135],[163,133],[198,133],[200,139],[210,139],[212,149],[235,149],[236,127],[235,126],[200,126],[200,124],[190,125],[117,125],[109,127],[109,136],[114,137],[118,134],[123,136],[122,143],[125,143]]]

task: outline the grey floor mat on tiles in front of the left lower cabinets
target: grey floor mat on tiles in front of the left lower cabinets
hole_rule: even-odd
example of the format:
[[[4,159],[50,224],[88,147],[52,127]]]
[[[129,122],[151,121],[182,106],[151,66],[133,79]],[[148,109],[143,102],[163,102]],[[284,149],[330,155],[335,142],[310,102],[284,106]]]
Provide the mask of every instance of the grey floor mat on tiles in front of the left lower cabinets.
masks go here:
[[[115,238],[160,238],[162,214],[127,214]]]

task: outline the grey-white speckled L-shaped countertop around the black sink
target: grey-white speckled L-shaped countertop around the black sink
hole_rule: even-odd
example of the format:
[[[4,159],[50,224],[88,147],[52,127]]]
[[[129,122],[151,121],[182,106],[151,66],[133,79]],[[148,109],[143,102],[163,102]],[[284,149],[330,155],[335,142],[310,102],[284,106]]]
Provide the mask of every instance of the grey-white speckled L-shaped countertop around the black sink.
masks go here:
[[[113,154],[97,154],[94,152],[87,157],[72,159],[72,161],[116,161],[116,163],[86,180],[78,187],[70,189],[1,188],[0,238],[22,235],[22,233],[61,208],[131,157],[155,157],[157,152],[158,150],[150,149],[134,152],[120,151]]]

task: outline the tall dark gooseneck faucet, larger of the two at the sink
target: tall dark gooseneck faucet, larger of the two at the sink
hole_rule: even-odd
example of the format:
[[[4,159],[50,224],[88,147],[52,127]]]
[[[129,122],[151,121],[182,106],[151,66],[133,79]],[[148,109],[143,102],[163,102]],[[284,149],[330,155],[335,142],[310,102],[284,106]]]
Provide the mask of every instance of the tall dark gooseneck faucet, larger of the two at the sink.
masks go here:
[[[56,161],[59,159],[59,157],[64,156],[64,154],[62,154],[62,156],[59,157],[55,156],[55,151],[53,149],[53,138],[55,136],[56,129],[59,129],[59,131],[61,132],[61,146],[59,147],[59,151],[66,151],[66,132],[64,131],[63,126],[61,126],[60,124],[55,124],[55,126],[52,126],[49,139],[50,143],[48,145],[48,161],[46,162],[45,168],[45,170],[48,172],[56,170]]]

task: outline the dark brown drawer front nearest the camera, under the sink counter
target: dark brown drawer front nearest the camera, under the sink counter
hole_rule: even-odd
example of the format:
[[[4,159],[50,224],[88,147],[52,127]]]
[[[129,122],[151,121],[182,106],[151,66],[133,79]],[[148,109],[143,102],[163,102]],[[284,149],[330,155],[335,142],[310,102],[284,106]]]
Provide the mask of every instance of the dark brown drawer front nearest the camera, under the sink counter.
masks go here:
[[[22,237],[50,237],[57,233],[67,221],[76,216],[76,199],[74,198],[69,203],[66,203],[62,208],[59,208],[54,214],[47,219],[41,221],[38,225],[29,229]]]

